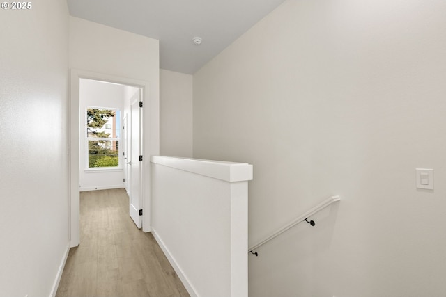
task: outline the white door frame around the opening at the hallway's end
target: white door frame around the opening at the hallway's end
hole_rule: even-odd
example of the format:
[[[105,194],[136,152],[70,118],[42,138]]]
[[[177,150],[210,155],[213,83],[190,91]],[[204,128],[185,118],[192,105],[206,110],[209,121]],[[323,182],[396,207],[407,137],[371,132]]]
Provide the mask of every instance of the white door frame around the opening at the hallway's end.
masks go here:
[[[148,81],[116,77],[109,74],[89,72],[85,70],[70,70],[70,246],[80,243],[79,222],[79,79],[93,79],[141,88],[143,107],[141,117],[141,145],[143,161],[141,164],[140,189],[142,196],[142,230],[151,231],[151,168],[150,156],[160,154],[160,101],[150,96]]]

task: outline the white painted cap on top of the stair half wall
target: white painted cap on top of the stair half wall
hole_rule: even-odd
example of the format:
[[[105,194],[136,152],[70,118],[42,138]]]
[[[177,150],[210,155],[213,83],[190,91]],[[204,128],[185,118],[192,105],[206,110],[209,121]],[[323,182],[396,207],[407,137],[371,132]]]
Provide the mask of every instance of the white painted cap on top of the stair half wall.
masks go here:
[[[206,177],[222,179],[225,182],[243,182],[252,180],[252,165],[172,156],[151,156],[151,162],[184,170]]]

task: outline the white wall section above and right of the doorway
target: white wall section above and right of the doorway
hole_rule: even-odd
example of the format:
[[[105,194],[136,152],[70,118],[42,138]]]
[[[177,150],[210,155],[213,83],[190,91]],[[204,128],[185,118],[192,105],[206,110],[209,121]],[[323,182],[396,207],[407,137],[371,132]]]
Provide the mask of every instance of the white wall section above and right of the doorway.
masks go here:
[[[160,152],[160,51],[159,41],[109,26],[70,17],[70,67],[100,77],[118,77],[143,83],[143,186],[150,185],[151,154]],[[92,74],[91,74],[92,75]],[[93,75],[95,76],[95,75]],[[139,84],[140,85],[140,84]],[[76,113],[75,109],[72,111]],[[144,204],[150,206],[149,191]],[[150,214],[150,211],[145,213]],[[150,230],[150,218],[144,215],[143,229]]]

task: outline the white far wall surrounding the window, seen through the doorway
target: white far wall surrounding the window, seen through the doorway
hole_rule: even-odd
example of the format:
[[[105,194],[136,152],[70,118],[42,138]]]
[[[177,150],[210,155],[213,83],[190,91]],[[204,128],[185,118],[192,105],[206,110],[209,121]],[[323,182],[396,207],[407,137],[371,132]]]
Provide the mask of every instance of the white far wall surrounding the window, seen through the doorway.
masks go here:
[[[87,143],[85,138],[86,131],[86,109],[88,106],[105,107],[121,110],[121,123],[123,108],[125,102],[125,86],[116,83],[105,83],[102,81],[93,81],[91,79],[81,79],[79,86],[79,122],[82,129],[79,135],[79,184],[80,191],[101,190],[105,188],[123,188],[123,161],[121,168],[113,170],[88,170]],[[117,127],[121,129],[122,125]],[[121,148],[119,156],[122,156],[122,141],[119,143]]]

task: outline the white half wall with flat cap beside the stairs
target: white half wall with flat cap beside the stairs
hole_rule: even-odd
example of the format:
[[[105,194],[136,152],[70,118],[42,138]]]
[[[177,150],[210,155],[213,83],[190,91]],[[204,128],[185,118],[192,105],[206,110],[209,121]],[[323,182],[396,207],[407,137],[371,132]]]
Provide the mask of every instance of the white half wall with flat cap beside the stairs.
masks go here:
[[[152,232],[190,296],[247,297],[252,166],[152,156]]]

